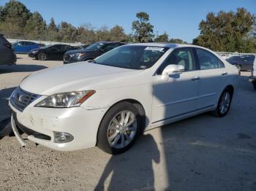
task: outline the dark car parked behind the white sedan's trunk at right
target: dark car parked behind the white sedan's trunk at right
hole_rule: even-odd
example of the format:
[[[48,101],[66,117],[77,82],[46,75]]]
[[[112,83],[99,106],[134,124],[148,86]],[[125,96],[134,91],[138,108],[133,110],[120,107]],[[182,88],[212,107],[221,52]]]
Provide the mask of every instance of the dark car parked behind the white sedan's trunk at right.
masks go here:
[[[235,65],[239,70],[252,70],[255,55],[234,55],[226,61]]]

